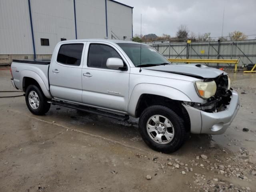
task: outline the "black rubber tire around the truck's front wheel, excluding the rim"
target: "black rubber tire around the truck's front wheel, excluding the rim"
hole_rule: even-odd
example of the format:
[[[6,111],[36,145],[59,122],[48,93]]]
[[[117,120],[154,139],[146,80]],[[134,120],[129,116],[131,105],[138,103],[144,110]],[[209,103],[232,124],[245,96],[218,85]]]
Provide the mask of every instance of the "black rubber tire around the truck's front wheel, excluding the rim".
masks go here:
[[[160,115],[168,118],[173,125],[174,137],[169,143],[159,144],[155,142],[148,134],[147,122],[154,116]],[[153,105],[146,108],[139,119],[139,130],[144,142],[152,149],[164,153],[171,153],[178,150],[185,142],[187,132],[184,126],[184,121],[173,110],[162,105]]]

